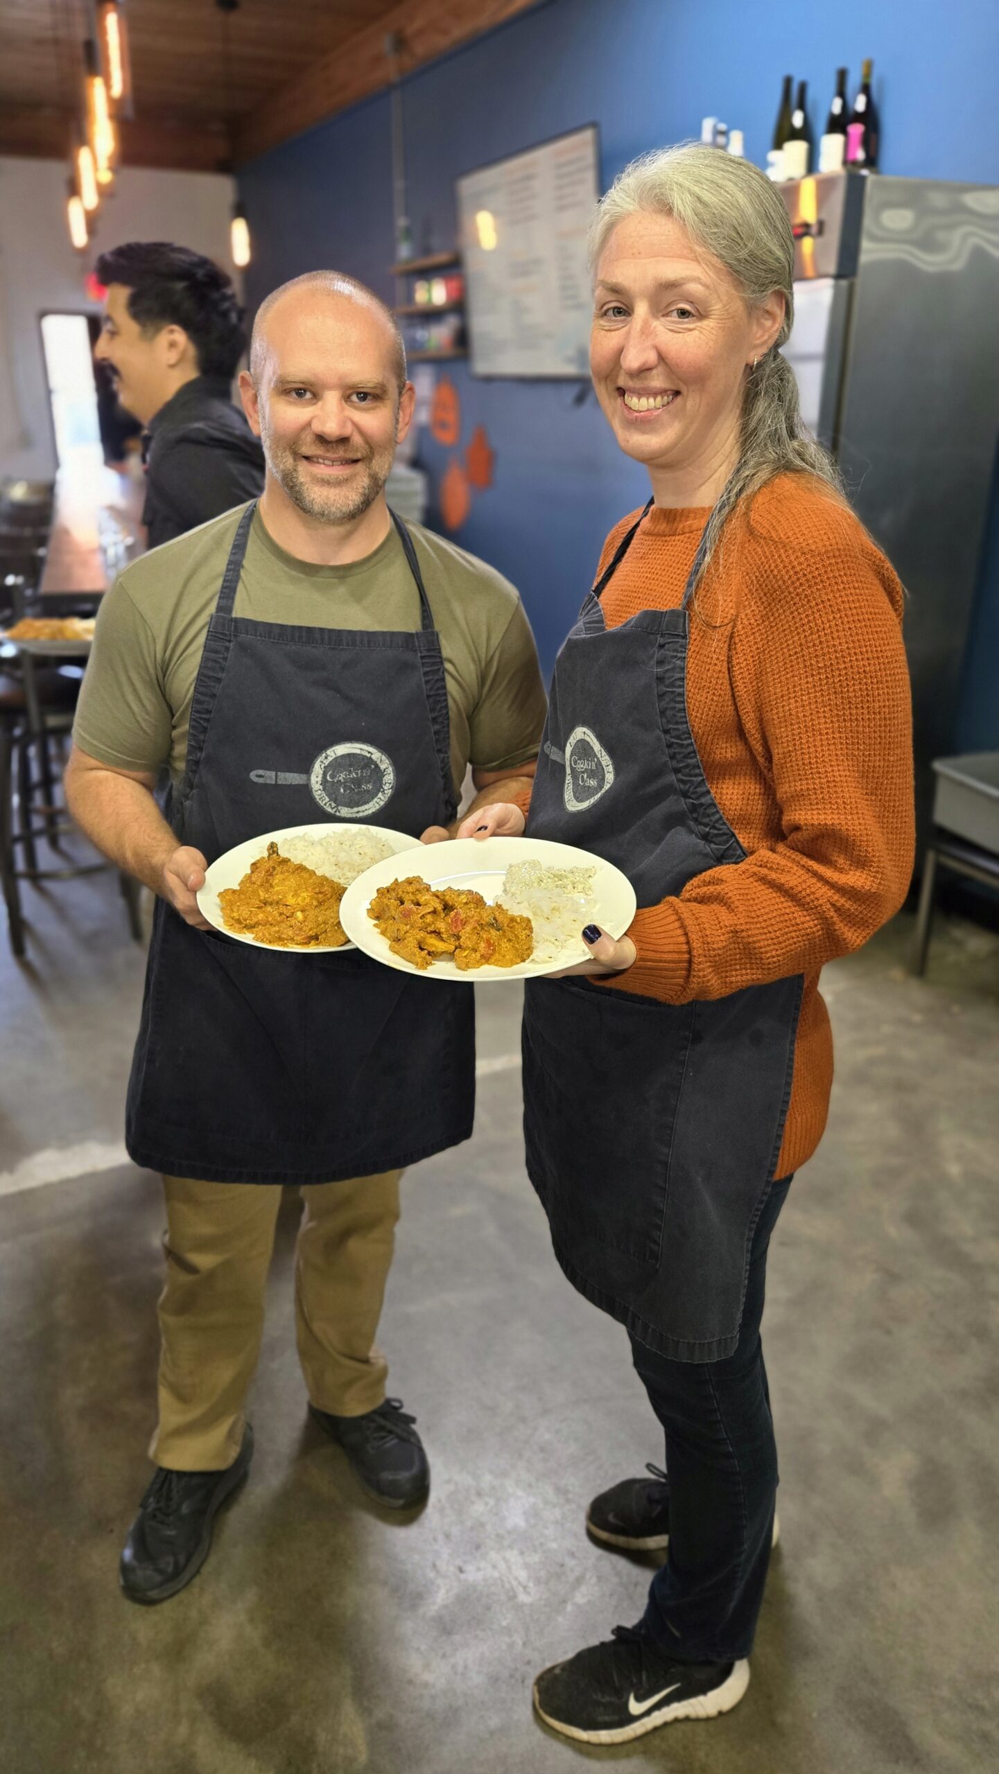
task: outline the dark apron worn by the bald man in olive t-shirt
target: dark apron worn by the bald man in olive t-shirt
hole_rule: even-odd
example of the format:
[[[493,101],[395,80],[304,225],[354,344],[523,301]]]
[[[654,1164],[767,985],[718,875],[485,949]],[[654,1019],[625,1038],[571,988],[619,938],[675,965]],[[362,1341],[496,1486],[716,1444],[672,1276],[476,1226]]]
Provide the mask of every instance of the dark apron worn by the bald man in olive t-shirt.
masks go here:
[[[209,862],[284,825],[351,820],[412,837],[454,818],[440,640],[406,527],[417,633],[232,616],[256,506],[208,626],[186,772],[169,818]],[[417,859],[419,860],[419,859]],[[357,949],[266,953],[156,901],[126,1112],[135,1164],[224,1183],[321,1183],[468,1139],[472,986]]]

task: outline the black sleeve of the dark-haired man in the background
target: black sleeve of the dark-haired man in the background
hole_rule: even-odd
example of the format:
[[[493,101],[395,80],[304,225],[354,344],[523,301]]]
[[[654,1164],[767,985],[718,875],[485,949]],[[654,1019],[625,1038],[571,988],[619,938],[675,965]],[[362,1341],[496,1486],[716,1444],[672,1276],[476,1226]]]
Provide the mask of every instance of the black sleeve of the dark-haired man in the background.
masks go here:
[[[183,431],[154,442],[146,502],[151,548],[263,493],[264,456],[256,438],[256,449],[248,444]]]

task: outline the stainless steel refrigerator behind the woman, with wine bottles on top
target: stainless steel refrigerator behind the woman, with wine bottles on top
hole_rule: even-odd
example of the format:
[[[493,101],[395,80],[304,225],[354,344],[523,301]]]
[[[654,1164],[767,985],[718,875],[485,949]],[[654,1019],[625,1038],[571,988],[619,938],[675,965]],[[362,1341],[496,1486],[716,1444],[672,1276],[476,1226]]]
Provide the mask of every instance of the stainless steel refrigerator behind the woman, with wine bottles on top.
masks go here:
[[[921,848],[955,718],[999,440],[999,188],[832,172],[781,186],[802,415],[909,593]],[[999,685],[997,685],[999,694]]]

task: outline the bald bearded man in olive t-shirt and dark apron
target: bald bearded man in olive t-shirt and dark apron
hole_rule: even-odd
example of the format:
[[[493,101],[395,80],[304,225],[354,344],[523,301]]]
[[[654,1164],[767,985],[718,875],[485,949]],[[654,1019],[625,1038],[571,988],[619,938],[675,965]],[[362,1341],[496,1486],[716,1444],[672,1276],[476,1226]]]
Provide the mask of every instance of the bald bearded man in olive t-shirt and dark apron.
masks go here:
[[[241,376],[266,484],[130,566],[105,598],[67,772],[76,821],[158,894],[126,1141],[160,1171],[153,1480],[121,1584],[195,1575],[243,1481],[280,1189],[303,1197],[295,1288],[309,1410],[389,1508],[426,1497],[415,1419],[374,1346],[403,1167],[472,1132],[472,986],[211,930],[208,866],[289,825],[451,836],[534,773],[545,694],[520,598],[385,502],[413,413],[403,339],[353,279],[263,303]],[[153,797],[170,773],[167,818]]]

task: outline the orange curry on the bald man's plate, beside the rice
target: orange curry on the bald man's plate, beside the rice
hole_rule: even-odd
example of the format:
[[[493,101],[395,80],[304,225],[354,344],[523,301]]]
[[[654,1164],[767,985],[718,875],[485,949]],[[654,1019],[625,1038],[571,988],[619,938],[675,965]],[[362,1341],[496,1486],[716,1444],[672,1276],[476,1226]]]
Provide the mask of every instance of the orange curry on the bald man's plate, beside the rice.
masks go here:
[[[225,930],[254,937],[275,949],[341,949],[348,940],[341,924],[344,887],[282,857],[268,844],[266,857],[250,862],[238,887],[218,894]]]

